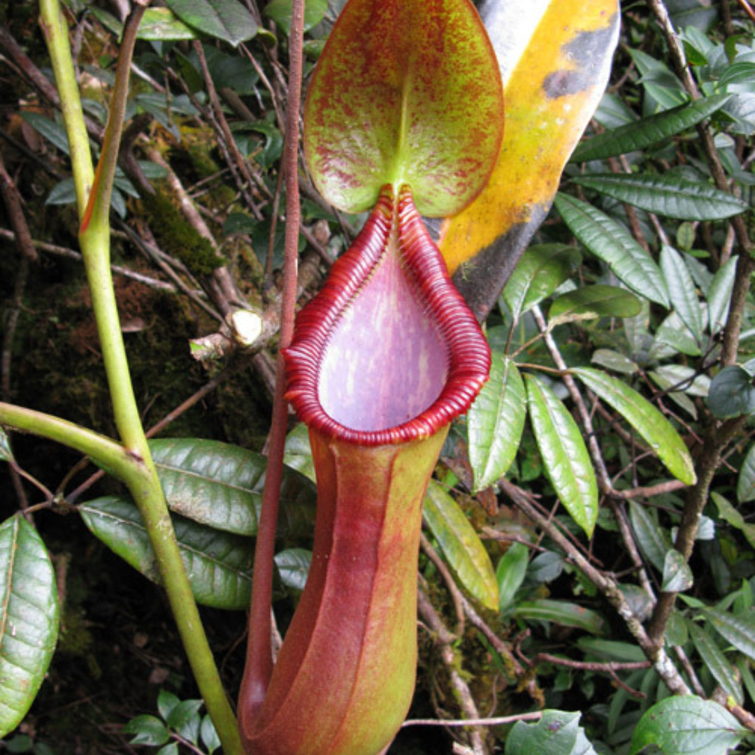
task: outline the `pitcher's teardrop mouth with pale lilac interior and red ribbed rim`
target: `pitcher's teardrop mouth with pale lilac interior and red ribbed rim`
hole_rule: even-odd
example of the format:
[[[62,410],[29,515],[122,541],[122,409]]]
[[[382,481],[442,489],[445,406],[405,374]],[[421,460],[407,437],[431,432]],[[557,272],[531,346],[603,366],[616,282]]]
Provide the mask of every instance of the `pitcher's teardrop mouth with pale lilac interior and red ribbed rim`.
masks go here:
[[[325,436],[384,445],[464,414],[490,350],[414,208],[384,186],[365,227],[297,316],[286,398]]]

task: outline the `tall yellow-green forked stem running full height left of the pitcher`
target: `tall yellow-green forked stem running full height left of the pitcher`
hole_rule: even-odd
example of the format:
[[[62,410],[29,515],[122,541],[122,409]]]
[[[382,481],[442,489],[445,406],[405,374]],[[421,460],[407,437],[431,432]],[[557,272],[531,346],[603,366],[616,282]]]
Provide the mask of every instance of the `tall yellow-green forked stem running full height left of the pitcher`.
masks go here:
[[[46,26],[51,25],[53,18],[62,20],[58,0],[43,0],[43,3],[47,6]],[[118,147],[128,99],[131,57],[139,21],[148,3],[149,0],[140,0],[125,24],[121,54],[116,69],[116,85],[110,102],[109,119],[94,183],[91,182],[91,163],[81,154],[77,154],[75,159],[72,154],[72,168],[77,186],[91,184],[91,195],[88,198],[77,194],[79,217],[82,218],[79,243],[84,256],[116,427],[123,442],[120,450],[128,458],[128,463],[122,461],[115,471],[128,485],[144,519],[186,655],[199,691],[205,699],[208,713],[223,744],[223,750],[227,755],[243,755],[244,750],[239,738],[236,716],[233,714],[220,681],[220,674],[180,556],[162,487],[149,453],[131,384],[131,374],[128,369],[128,359],[110,274],[109,206],[112,181],[116,172]],[[52,33],[51,39],[54,40],[54,45],[50,47],[50,54],[54,59],[54,70],[57,74],[60,69],[63,81],[66,82],[64,85],[66,88],[60,88],[60,98],[65,101],[67,97],[74,96],[71,94],[72,88],[68,78],[72,72],[72,63],[67,30],[63,34],[60,29],[57,29]],[[66,48],[66,51],[63,48]],[[75,97],[78,98],[78,91]],[[69,133],[81,133],[84,122],[80,109],[64,108],[63,116]],[[54,424],[48,423],[47,429],[54,429]],[[71,428],[66,427],[66,430],[71,430]],[[79,431],[79,436],[81,432],[88,432],[81,429]],[[92,435],[96,436],[96,433]],[[66,438],[66,433],[57,433],[55,436],[55,439],[70,445],[70,439]],[[96,454],[95,457],[97,458]]]

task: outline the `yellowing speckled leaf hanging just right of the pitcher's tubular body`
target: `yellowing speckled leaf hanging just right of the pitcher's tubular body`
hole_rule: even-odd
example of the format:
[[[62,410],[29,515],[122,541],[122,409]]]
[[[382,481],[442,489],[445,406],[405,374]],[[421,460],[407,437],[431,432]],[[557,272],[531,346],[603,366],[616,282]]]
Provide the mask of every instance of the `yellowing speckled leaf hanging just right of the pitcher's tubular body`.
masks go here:
[[[483,606],[497,611],[498,582],[488,551],[456,501],[433,480],[427,486],[422,516],[464,588]]]

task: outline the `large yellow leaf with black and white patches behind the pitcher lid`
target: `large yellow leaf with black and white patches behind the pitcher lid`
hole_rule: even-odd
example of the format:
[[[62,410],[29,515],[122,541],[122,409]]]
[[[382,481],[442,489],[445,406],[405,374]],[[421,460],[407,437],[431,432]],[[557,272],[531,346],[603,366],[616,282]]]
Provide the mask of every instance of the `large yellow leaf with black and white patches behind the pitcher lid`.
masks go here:
[[[618,39],[616,0],[485,0],[504,77],[506,134],[479,198],[442,225],[454,282],[482,320],[545,219],[599,103]]]

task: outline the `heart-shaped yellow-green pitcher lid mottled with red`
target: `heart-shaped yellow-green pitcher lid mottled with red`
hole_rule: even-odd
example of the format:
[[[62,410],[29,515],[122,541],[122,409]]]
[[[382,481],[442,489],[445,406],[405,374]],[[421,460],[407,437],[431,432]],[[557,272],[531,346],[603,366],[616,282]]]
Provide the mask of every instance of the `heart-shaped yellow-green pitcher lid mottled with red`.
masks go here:
[[[350,0],[317,63],[304,112],[313,180],[359,212],[408,183],[421,214],[458,212],[501,146],[495,53],[468,0]]]

